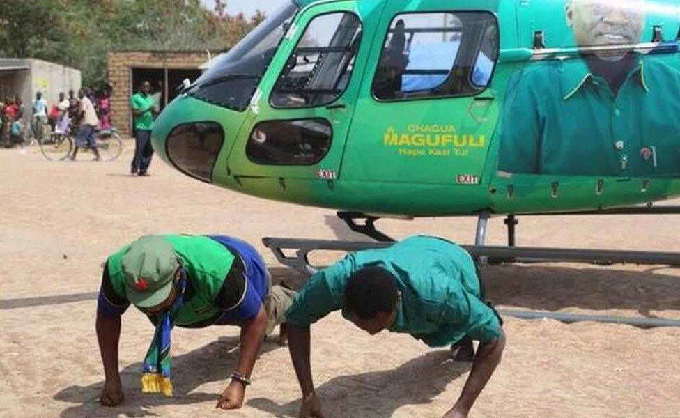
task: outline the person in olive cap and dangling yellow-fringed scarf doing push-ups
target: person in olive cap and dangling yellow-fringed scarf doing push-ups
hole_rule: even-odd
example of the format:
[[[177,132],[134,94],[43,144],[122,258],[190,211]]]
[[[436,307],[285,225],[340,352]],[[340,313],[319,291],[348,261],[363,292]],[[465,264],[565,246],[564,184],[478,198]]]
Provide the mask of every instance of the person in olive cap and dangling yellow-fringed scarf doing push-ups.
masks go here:
[[[130,304],[144,312],[156,331],[143,364],[143,392],[172,395],[171,329],[238,325],[240,355],[217,408],[240,408],[263,337],[281,324],[295,293],[271,286],[257,251],[224,235],[148,235],[107,260],[98,298],[97,337],[106,381],[100,402],[123,402],[118,375],[121,314]]]

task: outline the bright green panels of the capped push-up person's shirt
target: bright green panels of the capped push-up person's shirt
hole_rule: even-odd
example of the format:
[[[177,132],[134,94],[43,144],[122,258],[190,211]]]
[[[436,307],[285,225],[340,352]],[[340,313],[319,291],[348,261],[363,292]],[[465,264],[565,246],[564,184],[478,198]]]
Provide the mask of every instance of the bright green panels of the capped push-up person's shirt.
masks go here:
[[[192,326],[210,322],[219,316],[221,309],[215,300],[219,300],[224,281],[231,270],[234,256],[224,245],[206,236],[200,235],[164,235],[180,258],[187,274],[192,277],[192,295],[185,295],[185,302],[179,309],[176,325]],[[107,268],[111,288],[107,292],[102,286],[109,304],[127,307],[125,297],[125,275],[121,267],[123,247],[109,257]],[[232,295],[233,296],[233,295]],[[240,293],[230,299],[240,299]],[[229,302],[228,302],[229,303]]]

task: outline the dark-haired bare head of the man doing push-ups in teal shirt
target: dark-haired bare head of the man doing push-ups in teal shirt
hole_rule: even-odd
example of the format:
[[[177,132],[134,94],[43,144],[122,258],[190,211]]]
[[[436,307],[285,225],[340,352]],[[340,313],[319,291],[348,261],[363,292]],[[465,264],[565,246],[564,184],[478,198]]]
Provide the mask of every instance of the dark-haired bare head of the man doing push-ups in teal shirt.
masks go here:
[[[382,267],[362,268],[345,286],[350,320],[371,335],[394,323],[400,298],[396,279]]]

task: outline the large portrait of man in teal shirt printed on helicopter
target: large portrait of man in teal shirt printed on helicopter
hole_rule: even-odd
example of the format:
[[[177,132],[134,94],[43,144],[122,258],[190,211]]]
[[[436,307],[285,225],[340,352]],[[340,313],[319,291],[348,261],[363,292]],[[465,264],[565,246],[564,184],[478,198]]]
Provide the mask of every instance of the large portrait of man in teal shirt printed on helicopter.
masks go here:
[[[564,176],[680,176],[680,73],[630,50],[644,1],[573,0],[579,47],[598,52],[530,64],[508,90],[499,170]]]

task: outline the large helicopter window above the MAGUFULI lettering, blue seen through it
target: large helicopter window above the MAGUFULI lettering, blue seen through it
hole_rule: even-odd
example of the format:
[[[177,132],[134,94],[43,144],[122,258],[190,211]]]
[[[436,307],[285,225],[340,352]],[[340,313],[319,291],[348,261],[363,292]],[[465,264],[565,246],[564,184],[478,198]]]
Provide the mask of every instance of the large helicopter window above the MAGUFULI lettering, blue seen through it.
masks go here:
[[[497,21],[487,12],[405,13],[394,17],[383,45],[376,99],[476,95],[497,60]]]

